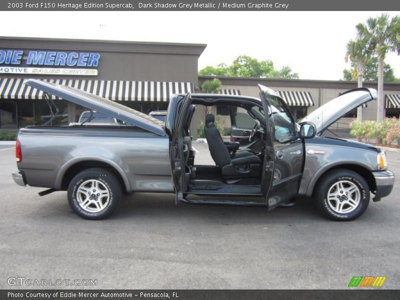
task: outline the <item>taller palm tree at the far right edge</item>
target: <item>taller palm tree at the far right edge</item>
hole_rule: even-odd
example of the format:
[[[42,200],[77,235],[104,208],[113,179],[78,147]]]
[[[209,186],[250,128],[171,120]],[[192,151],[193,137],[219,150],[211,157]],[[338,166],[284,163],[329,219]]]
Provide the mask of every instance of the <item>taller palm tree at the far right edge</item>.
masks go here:
[[[386,13],[373,18],[369,17],[366,24],[359,23],[357,36],[368,40],[369,49],[378,57],[378,101],[376,120],[383,119],[383,63],[389,51],[400,54],[400,16],[389,19]]]

